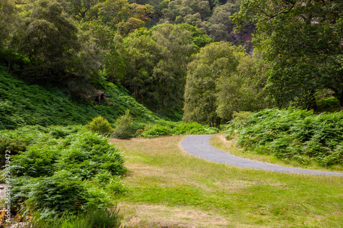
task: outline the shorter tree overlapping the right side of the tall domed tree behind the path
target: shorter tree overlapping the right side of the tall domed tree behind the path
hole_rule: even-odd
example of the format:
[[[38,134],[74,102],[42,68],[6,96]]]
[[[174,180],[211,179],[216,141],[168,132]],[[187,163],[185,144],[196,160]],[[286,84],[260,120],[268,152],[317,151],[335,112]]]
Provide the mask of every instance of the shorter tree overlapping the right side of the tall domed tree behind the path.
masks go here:
[[[220,75],[215,81],[216,113],[230,119],[234,112],[258,111],[268,107],[265,86],[266,66],[259,58],[241,54],[236,71]]]

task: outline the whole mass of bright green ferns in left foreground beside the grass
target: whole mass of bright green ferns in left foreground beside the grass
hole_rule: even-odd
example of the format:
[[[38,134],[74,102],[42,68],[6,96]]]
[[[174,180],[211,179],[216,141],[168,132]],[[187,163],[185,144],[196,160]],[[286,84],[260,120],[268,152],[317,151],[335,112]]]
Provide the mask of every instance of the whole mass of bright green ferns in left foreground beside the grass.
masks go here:
[[[51,135],[56,129],[64,138]],[[107,207],[113,194],[126,191],[119,180],[126,172],[123,156],[103,136],[80,127],[40,126],[0,134],[14,141],[21,138],[27,148],[11,156],[13,207],[58,218],[88,206]],[[106,186],[95,184],[104,181]]]

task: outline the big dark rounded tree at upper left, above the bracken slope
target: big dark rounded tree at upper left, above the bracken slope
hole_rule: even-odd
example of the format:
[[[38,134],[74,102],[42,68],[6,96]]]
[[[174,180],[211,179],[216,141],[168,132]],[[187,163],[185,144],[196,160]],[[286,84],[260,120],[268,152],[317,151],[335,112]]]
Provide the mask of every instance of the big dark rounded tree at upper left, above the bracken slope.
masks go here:
[[[60,81],[75,66],[75,55],[81,47],[78,29],[57,1],[39,0],[34,4],[34,10],[25,18],[19,45],[31,62],[24,75]]]

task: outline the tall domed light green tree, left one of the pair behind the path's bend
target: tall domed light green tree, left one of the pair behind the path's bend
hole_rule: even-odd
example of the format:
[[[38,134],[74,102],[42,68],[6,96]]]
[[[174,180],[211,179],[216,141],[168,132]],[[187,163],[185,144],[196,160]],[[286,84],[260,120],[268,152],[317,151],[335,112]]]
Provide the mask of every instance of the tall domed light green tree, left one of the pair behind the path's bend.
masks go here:
[[[214,42],[201,49],[188,66],[182,121],[220,126],[216,81],[237,71],[241,55],[243,49],[227,42]]]

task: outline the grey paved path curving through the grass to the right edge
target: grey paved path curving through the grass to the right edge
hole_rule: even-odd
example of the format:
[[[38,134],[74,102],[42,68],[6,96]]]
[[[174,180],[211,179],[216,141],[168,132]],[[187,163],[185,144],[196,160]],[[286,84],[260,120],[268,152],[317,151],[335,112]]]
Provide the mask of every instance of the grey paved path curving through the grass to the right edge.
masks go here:
[[[181,147],[188,153],[202,157],[206,160],[212,162],[220,162],[224,164],[230,164],[233,166],[240,166],[246,168],[256,168],[263,170],[272,170],[276,172],[285,173],[300,173],[300,174],[311,174],[311,175],[328,175],[328,176],[341,176],[343,173],[326,172],[318,170],[307,170],[303,168],[291,168],[285,166],[279,166],[276,164],[264,163],[264,162],[254,162],[245,158],[237,157],[235,155],[230,155],[218,149],[215,149],[209,143],[209,139],[213,135],[193,135],[187,136],[181,142]]]

